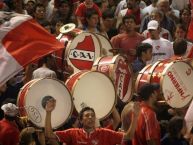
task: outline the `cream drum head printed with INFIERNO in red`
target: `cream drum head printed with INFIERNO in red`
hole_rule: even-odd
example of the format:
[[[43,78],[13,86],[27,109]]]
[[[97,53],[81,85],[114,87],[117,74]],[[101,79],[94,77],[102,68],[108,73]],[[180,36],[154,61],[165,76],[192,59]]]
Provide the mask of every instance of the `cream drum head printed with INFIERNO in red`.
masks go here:
[[[166,102],[173,108],[185,107],[192,99],[192,67],[183,61],[171,62],[166,66],[161,78],[161,86]]]

